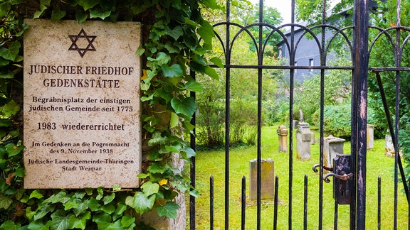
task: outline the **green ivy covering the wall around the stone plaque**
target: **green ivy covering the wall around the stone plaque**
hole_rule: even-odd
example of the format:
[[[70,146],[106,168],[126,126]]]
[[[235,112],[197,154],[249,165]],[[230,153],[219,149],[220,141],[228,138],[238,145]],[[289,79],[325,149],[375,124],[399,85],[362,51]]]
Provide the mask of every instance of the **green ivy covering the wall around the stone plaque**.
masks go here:
[[[201,84],[189,70],[218,78],[207,60],[214,31],[201,9],[221,10],[215,0],[3,0],[0,2],[0,229],[134,229],[137,214],[154,209],[160,217],[177,217],[173,199],[181,192],[198,195],[189,177],[172,164],[175,156],[189,163],[194,150],[184,133],[196,111],[189,92]],[[21,141],[23,18],[140,21],[144,173],[139,188],[118,186],[82,190],[24,190]],[[201,39],[199,39],[201,38]],[[19,90],[20,89],[20,90]],[[145,226],[146,227],[146,226]]]

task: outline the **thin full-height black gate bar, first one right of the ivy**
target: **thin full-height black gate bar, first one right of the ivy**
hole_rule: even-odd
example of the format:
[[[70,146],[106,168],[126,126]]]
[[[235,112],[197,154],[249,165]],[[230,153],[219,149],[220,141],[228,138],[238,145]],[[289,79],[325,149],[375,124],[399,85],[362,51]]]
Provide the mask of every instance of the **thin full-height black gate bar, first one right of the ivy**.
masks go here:
[[[231,2],[226,1],[226,65],[231,64],[230,26]],[[231,68],[226,67],[225,85],[225,229],[229,229],[229,113],[231,106]]]

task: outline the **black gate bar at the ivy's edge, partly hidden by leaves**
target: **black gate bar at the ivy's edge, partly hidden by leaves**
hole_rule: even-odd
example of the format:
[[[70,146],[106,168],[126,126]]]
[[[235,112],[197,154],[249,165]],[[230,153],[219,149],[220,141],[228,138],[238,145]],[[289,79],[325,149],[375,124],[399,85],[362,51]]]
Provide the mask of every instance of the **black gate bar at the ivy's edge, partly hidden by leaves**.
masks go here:
[[[196,75],[194,71],[191,71],[190,75],[193,79],[195,79]],[[190,94],[191,94],[191,97],[194,97],[196,101],[196,93],[194,91],[191,91]],[[196,124],[196,114],[195,113],[192,115],[191,124],[194,125],[195,127],[195,124]],[[195,145],[196,133],[195,132],[196,132],[196,128],[194,128],[189,138],[189,145],[194,151],[196,151],[196,145]],[[189,177],[191,177],[192,187],[195,187],[195,173],[196,173],[196,165],[195,165],[195,157],[193,156],[191,157],[191,165],[190,165],[190,170],[189,170]],[[195,229],[195,212],[196,212],[195,197],[190,195],[189,196],[189,229],[191,230]]]

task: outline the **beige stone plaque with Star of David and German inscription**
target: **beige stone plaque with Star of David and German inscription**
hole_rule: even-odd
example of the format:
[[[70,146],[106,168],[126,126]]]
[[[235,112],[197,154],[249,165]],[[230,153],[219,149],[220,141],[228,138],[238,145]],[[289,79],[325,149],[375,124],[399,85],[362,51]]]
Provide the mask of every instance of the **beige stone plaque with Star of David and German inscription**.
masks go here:
[[[140,23],[25,23],[24,187],[137,187]]]

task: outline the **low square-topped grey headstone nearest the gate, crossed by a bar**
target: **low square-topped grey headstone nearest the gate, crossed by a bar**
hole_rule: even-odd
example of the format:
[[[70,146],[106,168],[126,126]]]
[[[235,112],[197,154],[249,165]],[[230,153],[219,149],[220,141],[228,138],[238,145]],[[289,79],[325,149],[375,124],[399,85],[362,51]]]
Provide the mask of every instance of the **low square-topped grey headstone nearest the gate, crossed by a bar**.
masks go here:
[[[249,161],[249,177],[251,187],[249,189],[249,199],[255,200],[258,195],[258,162]],[[275,183],[275,163],[272,159],[261,160],[261,199],[274,198]]]

